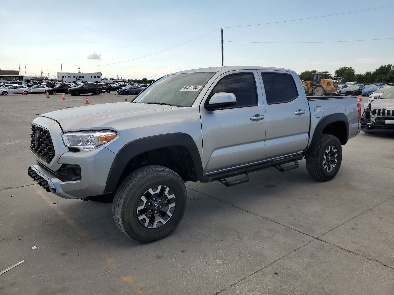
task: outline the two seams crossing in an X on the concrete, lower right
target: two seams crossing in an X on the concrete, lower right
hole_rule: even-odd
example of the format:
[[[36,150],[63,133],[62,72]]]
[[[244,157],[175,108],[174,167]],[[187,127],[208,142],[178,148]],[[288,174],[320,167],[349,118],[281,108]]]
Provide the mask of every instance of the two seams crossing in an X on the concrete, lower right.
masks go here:
[[[368,259],[368,260],[370,260],[370,261],[376,261],[376,262],[378,262],[378,263],[381,264],[381,265],[384,265],[384,266],[386,266],[386,267],[389,267],[389,268],[391,268],[391,269],[394,269],[394,267],[391,267],[391,266],[389,266],[389,265],[386,265],[386,264],[384,264],[383,262],[381,262],[381,261],[379,261],[379,260],[368,258],[368,257],[366,257],[366,256],[363,256],[363,255],[358,254],[358,253],[356,253],[356,252],[353,252],[353,251],[350,251],[350,250],[348,250],[348,249],[342,248],[342,247],[340,247],[340,246],[338,246],[338,245],[335,245],[335,244],[333,244],[333,243],[327,242],[327,241],[322,240],[322,239],[320,238],[321,236],[324,236],[324,235],[327,234],[328,232],[331,232],[332,230],[334,230],[334,229],[340,227],[341,225],[344,225],[345,223],[347,223],[347,222],[349,222],[349,221],[355,219],[356,217],[360,216],[361,214],[364,214],[365,212],[367,212],[367,211],[369,211],[369,210],[372,210],[373,208],[375,208],[375,207],[381,205],[382,203],[384,203],[384,202],[386,202],[386,201],[392,199],[392,198],[394,197],[394,195],[393,195],[392,197],[389,197],[388,199],[382,201],[381,203],[379,203],[379,204],[377,204],[377,205],[375,205],[375,206],[373,206],[373,207],[371,207],[371,208],[365,210],[364,212],[361,212],[361,213],[358,214],[357,216],[354,216],[353,218],[350,218],[349,220],[345,221],[344,223],[341,223],[341,224],[338,225],[337,227],[334,227],[333,229],[330,229],[329,231],[325,232],[324,234],[322,234],[322,235],[320,235],[320,236],[318,236],[318,237],[315,237],[315,236],[312,236],[311,234],[307,234],[306,232],[303,232],[303,231],[301,231],[301,230],[294,229],[294,228],[292,228],[292,227],[290,227],[290,226],[288,226],[288,225],[284,225],[284,224],[282,224],[282,223],[280,223],[280,222],[278,222],[278,221],[275,221],[275,220],[266,218],[266,217],[264,217],[264,216],[261,216],[261,215],[258,215],[258,214],[256,214],[256,213],[254,213],[254,212],[248,211],[248,210],[246,210],[246,209],[243,209],[243,208],[240,208],[240,207],[238,207],[238,206],[235,206],[235,205],[232,205],[232,204],[230,204],[230,203],[227,203],[227,202],[225,202],[225,201],[223,201],[223,200],[217,199],[216,197],[212,197],[212,196],[210,196],[210,195],[207,195],[207,194],[204,194],[204,193],[202,193],[202,192],[199,192],[198,190],[195,190],[195,189],[193,189],[193,188],[188,188],[188,189],[193,190],[193,191],[195,191],[195,192],[198,192],[198,193],[200,193],[200,194],[206,195],[207,197],[210,197],[210,198],[212,198],[212,199],[215,199],[215,200],[220,201],[220,202],[222,202],[222,203],[225,203],[225,204],[227,204],[227,205],[233,206],[233,207],[238,208],[238,209],[240,209],[240,210],[243,210],[243,211],[245,211],[245,212],[254,214],[254,215],[256,215],[256,216],[258,216],[258,217],[260,217],[260,218],[267,219],[267,220],[269,220],[269,221],[272,221],[272,222],[274,222],[274,223],[277,223],[277,224],[279,224],[279,225],[282,225],[282,226],[284,226],[284,227],[287,227],[288,229],[292,229],[292,230],[295,230],[295,231],[297,231],[297,232],[299,232],[299,233],[301,233],[301,234],[305,234],[305,235],[307,235],[307,236],[310,236],[310,237],[313,238],[314,240],[318,240],[318,241],[320,241],[320,242],[327,243],[327,244],[329,244],[329,245],[332,245],[332,246],[334,246],[334,247],[337,247],[338,249],[342,249],[342,250],[344,250],[344,251],[346,251],[346,252],[349,252],[349,253],[352,253],[352,254],[356,254],[357,256],[361,256],[362,258]],[[314,240],[312,240],[312,241],[314,241]],[[312,241],[310,241],[310,242],[312,242]],[[308,243],[302,245],[301,247],[298,247],[298,248],[295,249],[294,251],[297,251],[297,250],[301,249],[302,247],[308,245],[310,242],[308,242]],[[217,295],[217,294],[219,294],[219,293],[221,293],[221,292],[227,290],[228,288],[230,288],[230,287],[232,287],[232,286],[234,286],[234,285],[236,285],[236,284],[242,282],[242,281],[245,280],[246,278],[249,278],[250,276],[254,275],[255,273],[258,273],[259,271],[261,271],[262,269],[268,267],[269,265],[274,264],[275,262],[277,262],[277,261],[281,260],[282,258],[288,256],[289,254],[292,254],[294,251],[291,251],[290,253],[287,253],[286,255],[282,256],[281,258],[278,258],[277,260],[275,260],[275,261],[273,261],[273,262],[271,262],[271,263],[265,265],[264,267],[262,267],[262,268],[260,268],[260,269],[258,269],[258,270],[256,270],[256,271],[253,271],[251,274],[247,275],[246,277],[243,277],[242,279],[238,280],[238,281],[235,282],[234,284],[231,284],[230,286],[228,286],[228,287],[226,287],[226,288],[224,288],[224,289],[222,289],[222,290],[220,290],[220,291],[217,291],[216,293],[214,293],[214,295]]]

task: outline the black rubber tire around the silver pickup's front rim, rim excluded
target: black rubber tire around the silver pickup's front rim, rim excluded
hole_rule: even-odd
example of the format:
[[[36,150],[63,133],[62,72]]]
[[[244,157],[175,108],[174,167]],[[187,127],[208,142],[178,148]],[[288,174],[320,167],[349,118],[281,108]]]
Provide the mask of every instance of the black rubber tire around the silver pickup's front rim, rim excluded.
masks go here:
[[[145,192],[156,185],[165,185],[175,194],[176,206],[172,216],[160,227],[147,228],[137,216],[137,206]],[[182,220],[187,205],[187,191],[182,179],[163,166],[149,165],[130,173],[119,185],[112,204],[117,227],[130,239],[149,243],[168,236]]]

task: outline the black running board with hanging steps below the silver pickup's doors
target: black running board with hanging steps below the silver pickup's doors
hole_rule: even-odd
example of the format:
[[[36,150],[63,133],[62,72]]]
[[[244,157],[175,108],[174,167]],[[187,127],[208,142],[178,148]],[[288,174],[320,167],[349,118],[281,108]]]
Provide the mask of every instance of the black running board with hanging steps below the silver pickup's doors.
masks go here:
[[[263,170],[263,169],[271,168],[271,167],[274,167],[281,172],[296,169],[296,168],[298,168],[298,161],[302,160],[303,157],[304,157],[303,155],[295,155],[295,156],[286,157],[286,158],[282,158],[282,159],[272,160],[269,162],[254,164],[254,165],[242,167],[239,169],[215,173],[215,174],[203,176],[201,178],[200,182],[201,183],[210,183],[212,181],[219,181],[220,183],[223,183],[227,187],[233,186],[236,184],[240,184],[240,183],[246,183],[249,181],[249,174],[248,173],[250,173],[250,172]],[[294,162],[294,164],[289,165],[289,166],[282,166],[284,164],[291,163],[291,162]],[[242,175],[242,174],[245,174],[245,177],[234,179],[231,181],[227,180],[227,178]]]

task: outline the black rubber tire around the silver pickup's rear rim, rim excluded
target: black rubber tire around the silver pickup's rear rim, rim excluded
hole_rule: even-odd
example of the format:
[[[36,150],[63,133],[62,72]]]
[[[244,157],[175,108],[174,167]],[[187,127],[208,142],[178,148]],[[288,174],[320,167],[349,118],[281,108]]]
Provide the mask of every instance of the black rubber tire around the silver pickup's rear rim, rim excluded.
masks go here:
[[[336,165],[332,171],[327,172],[324,167],[324,153],[330,147],[334,146],[338,155],[336,157]],[[318,181],[329,181],[338,173],[342,162],[342,146],[336,136],[322,134],[316,145],[310,147],[307,155],[305,155],[307,171],[310,176]]]

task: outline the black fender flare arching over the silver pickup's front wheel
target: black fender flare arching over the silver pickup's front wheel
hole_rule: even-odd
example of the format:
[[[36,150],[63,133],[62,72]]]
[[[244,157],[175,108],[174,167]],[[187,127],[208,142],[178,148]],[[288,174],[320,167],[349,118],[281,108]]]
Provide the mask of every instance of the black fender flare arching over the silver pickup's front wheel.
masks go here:
[[[170,146],[183,146],[187,149],[193,161],[196,181],[199,181],[203,177],[203,164],[195,141],[186,133],[167,133],[139,138],[125,144],[112,162],[103,194],[115,191],[122,172],[131,159],[141,153]]]

